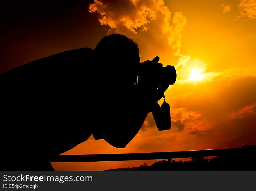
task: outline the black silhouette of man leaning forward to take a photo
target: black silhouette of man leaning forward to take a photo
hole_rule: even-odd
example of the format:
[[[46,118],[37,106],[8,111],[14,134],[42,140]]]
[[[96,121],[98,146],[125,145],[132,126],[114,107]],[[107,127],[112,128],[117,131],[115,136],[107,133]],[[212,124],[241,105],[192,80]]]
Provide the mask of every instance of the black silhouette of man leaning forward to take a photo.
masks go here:
[[[150,71],[159,58],[148,62]],[[139,79],[138,45],[124,35],[1,74],[1,170],[51,170],[50,158],[91,134],[124,148],[168,88]]]

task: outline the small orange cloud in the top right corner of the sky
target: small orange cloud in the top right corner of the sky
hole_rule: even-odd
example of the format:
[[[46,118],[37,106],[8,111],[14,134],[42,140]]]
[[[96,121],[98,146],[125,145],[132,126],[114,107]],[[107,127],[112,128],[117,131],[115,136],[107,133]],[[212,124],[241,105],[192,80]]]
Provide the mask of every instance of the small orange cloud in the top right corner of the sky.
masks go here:
[[[256,19],[256,0],[240,0],[238,8],[242,17]]]

